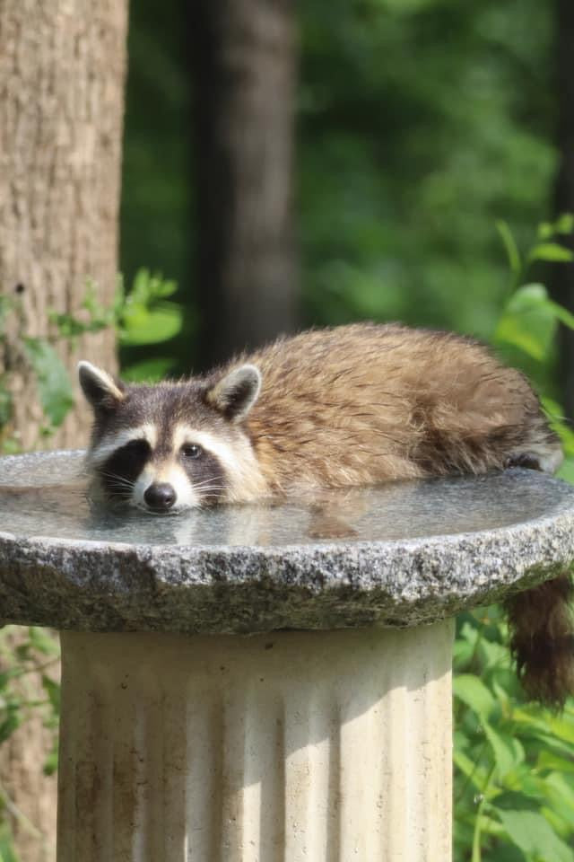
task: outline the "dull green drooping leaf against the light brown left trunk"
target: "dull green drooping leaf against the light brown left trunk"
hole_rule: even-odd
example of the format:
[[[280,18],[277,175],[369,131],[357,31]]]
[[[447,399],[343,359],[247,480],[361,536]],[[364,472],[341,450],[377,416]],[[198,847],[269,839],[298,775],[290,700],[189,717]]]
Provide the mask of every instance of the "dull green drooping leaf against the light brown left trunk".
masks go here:
[[[44,339],[23,339],[24,350],[36,374],[39,400],[53,426],[61,425],[74,407],[72,383],[54,347]]]

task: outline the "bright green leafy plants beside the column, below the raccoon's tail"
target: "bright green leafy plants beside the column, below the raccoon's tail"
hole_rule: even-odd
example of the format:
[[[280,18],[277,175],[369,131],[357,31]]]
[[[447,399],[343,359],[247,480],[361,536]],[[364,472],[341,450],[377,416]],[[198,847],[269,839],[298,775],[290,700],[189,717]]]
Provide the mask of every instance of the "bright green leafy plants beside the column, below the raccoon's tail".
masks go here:
[[[574,862],[574,704],[525,703],[499,608],[457,620],[455,859]]]

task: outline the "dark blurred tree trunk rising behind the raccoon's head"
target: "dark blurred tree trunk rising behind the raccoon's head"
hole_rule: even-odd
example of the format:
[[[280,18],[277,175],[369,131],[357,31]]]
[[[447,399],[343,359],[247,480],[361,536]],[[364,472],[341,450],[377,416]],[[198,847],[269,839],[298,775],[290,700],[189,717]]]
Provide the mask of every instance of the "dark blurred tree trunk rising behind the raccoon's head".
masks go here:
[[[201,363],[295,329],[291,0],[197,0],[197,279]]]

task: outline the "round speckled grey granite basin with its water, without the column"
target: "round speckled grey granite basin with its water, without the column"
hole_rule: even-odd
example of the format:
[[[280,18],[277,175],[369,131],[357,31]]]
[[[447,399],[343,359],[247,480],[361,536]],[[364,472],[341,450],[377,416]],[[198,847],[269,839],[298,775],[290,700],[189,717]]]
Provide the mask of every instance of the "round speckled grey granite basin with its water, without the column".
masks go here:
[[[533,471],[152,517],[97,511],[82,453],[0,459],[0,620],[76,630],[415,626],[574,561],[574,488]]]

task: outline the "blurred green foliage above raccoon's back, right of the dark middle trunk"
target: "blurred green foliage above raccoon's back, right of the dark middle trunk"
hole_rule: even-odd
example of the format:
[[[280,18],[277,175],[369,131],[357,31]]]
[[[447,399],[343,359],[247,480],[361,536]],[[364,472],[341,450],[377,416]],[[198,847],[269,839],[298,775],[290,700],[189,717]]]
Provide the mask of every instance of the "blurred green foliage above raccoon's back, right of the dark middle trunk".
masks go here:
[[[300,22],[309,321],[490,339],[506,290],[491,224],[504,213],[527,242],[555,172],[552,6],[308,0]]]

